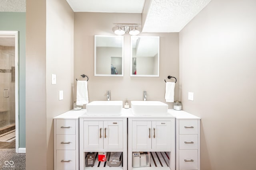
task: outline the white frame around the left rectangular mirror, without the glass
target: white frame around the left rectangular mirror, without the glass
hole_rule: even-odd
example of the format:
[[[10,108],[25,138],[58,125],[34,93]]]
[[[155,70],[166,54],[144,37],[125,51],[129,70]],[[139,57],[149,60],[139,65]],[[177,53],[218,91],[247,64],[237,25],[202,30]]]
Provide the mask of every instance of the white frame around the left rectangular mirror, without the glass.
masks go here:
[[[122,39],[122,74],[96,74],[96,38],[97,37],[113,37],[113,38],[120,38]],[[120,35],[94,35],[94,76],[113,76],[113,77],[120,77],[124,76],[124,36]]]

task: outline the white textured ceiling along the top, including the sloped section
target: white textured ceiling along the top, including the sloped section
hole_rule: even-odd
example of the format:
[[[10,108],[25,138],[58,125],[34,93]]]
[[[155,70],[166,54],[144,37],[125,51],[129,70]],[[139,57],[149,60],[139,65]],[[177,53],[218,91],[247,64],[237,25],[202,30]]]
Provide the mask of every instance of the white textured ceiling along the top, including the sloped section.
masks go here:
[[[74,12],[142,13],[145,4],[145,0],[66,1]],[[151,4],[142,32],[180,32],[211,0],[146,1]],[[0,0],[0,12],[26,12],[26,0]]]

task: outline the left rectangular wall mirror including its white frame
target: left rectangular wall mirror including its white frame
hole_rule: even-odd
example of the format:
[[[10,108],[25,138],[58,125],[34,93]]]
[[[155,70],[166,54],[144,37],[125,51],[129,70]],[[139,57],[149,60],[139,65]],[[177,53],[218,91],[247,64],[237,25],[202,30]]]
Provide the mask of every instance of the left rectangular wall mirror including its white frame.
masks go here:
[[[94,76],[124,76],[124,37],[94,35]]]

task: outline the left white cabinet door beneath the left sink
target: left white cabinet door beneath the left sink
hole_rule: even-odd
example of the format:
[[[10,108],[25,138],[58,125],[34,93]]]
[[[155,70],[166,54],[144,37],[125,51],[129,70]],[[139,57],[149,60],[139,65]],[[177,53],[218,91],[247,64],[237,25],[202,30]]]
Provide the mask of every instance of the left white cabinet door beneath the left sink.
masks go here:
[[[103,121],[84,121],[84,149],[103,149]]]

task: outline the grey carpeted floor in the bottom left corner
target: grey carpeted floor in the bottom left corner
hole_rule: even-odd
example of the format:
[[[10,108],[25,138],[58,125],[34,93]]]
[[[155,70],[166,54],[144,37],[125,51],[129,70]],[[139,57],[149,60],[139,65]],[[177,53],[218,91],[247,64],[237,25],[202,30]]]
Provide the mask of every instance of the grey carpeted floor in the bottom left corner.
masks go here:
[[[0,170],[26,170],[26,154],[15,149],[0,149]]]

